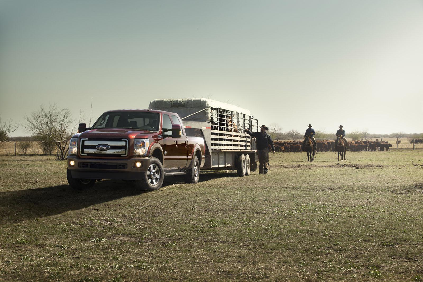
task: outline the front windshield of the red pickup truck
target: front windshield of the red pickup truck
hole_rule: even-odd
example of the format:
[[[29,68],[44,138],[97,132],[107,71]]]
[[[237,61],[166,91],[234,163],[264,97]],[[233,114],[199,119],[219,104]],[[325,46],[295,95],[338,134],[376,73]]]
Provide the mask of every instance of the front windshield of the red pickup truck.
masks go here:
[[[159,131],[160,115],[154,112],[105,112],[92,129],[128,128]]]

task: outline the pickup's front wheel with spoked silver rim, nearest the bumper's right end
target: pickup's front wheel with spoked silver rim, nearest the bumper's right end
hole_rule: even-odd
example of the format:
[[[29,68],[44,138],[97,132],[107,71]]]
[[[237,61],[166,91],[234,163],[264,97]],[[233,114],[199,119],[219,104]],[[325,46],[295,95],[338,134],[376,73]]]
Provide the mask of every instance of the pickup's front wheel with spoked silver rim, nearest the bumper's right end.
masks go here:
[[[165,175],[163,173],[162,162],[159,159],[151,157],[148,169],[141,173],[143,173],[143,178],[134,181],[137,189],[156,191],[162,187]]]

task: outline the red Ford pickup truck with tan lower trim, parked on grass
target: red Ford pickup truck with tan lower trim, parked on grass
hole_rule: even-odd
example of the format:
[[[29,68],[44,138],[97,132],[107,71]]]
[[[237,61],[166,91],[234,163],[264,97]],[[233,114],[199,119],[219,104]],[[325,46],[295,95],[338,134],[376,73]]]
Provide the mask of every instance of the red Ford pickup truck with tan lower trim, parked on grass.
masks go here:
[[[99,179],[132,181],[137,188],[158,190],[167,175],[185,175],[197,183],[204,165],[204,139],[189,137],[181,118],[157,110],[104,112],[86,128],[81,123],[72,136],[67,179],[77,190]]]

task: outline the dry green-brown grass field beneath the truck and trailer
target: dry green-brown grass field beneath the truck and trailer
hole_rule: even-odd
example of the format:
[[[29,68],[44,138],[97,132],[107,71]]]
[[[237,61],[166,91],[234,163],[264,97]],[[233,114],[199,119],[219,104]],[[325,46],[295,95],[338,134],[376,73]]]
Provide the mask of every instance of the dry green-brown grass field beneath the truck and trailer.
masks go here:
[[[1,281],[423,281],[423,150],[275,154],[157,192],[0,157]]]

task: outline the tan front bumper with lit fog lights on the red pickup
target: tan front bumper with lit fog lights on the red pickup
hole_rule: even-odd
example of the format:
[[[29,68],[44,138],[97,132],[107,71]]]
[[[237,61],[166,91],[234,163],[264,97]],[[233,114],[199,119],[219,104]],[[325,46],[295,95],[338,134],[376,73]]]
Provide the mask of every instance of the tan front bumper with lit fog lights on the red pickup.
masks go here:
[[[68,169],[73,178],[85,179],[125,179],[139,180],[150,166],[149,157],[131,159],[84,159],[78,156],[68,156]],[[71,166],[70,162],[74,161]],[[137,167],[136,163],[141,166]]]

